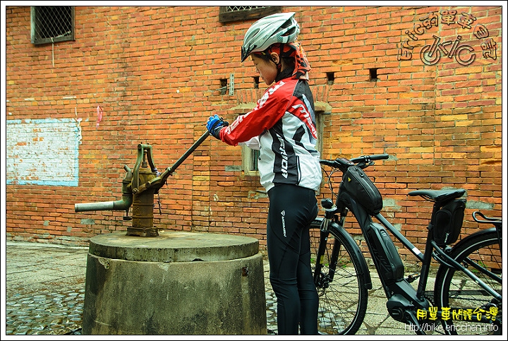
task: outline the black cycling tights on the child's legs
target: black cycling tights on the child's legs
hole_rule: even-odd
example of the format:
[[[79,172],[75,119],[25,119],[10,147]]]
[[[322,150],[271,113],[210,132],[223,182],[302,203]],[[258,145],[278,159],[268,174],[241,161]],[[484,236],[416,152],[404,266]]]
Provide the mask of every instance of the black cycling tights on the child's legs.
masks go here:
[[[317,215],[315,192],[295,185],[268,191],[267,251],[277,296],[279,335],[317,334],[317,290],[310,270],[309,226]]]

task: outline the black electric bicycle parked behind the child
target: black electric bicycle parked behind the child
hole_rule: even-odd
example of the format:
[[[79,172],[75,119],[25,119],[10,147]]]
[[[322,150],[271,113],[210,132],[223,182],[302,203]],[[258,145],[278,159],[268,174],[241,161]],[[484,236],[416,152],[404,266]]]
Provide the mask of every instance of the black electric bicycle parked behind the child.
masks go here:
[[[344,227],[349,212],[361,229],[385,289],[387,311],[394,320],[411,325],[411,330],[421,335],[502,333],[501,218],[485,217],[476,211],[473,218],[477,222],[492,223],[494,227],[470,234],[450,246],[458,239],[464,219],[466,200],[461,199],[464,189],[411,191],[409,196],[433,202],[422,253],[381,215],[380,194],[381,208],[377,204],[376,208],[373,203],[365,205],[363,198],[357,198],[346,188],[345,182],[351,180],[354,171],[367,178],[363,179],[368,187],[365,191],[379,193],[363,169],[388,157],[382,154],[351,160],[320,160],[322,166],[332,167],[328,184],[335,198],[335,203],[330,198],[322,199],[325,216],[317,217],[310,229],[313,276],[320,296],[320,334],[356,333],[365,318],[368,289],[372,289],[365,256]],[[342,181],[335,193],[332,174],[337,171],[342,172]],[[449,216],[449,212],[454,216]],[[372,217],[378,222],[373,222]],[[418,258],[419,273],[404,277],[404,265],[387,231]],[[432,258],[439,268],[430,291],[426,287]],[[411,285],[415,280],[417,289]]]

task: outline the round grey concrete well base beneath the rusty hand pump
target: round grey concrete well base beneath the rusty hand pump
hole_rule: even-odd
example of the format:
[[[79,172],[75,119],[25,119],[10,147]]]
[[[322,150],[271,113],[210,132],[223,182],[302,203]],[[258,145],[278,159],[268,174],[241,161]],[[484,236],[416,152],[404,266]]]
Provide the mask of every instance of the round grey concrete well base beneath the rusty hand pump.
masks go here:
[[[90,239],[84,335],[262,335],[258,240],[229,234]]]

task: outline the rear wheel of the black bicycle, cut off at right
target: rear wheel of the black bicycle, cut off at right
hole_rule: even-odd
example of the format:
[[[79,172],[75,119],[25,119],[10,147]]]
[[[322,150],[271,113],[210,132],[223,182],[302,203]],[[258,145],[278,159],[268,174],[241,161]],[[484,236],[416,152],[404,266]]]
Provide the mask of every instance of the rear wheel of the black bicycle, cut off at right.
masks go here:
[[[466,258],[471,259],[482,268],[492,271],[498,277],[502,276],[500,244],[494,228],[489,229],[487,232],[477,232],[470,237],[466,237],[461,243],[452,248],[450,256],[475,273],[480,280],[490,285],[496,292],[502,294],[502,282],[493,280],[492,277],[481,273],[464,261]],[[460,270],[440,265],[437,270],[434,295],[437,309],[442,309],[442,307],[451,309],[450,319],[441,319],[445,334],[500,335],[502,333],[501,303],[492,306],[491,310],[489,304],[495,301],[494,297],[485,292],[483,288]],[[469,312],[471,311],[468,309],[472,309],[471,318],[469,318]],[[481,316],[481,314],[484,317],[487,316],[480,309],[485,312],[488,311],[490,316],[488,322],[490,323],[478,321],[478,316]],[[455,321],[453,311],[457,313]]]

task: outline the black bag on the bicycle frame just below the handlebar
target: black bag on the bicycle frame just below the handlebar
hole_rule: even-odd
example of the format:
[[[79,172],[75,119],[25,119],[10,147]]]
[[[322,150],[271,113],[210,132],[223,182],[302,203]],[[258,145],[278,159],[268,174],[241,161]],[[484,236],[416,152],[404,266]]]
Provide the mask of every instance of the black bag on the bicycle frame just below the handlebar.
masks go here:
[[[355,165],[348,167],[339,186],[340,193],[348,193],[357,203],[360,203],[370,215],[375,215],[382,209],[382,197],[373,181],[363,170]]]

